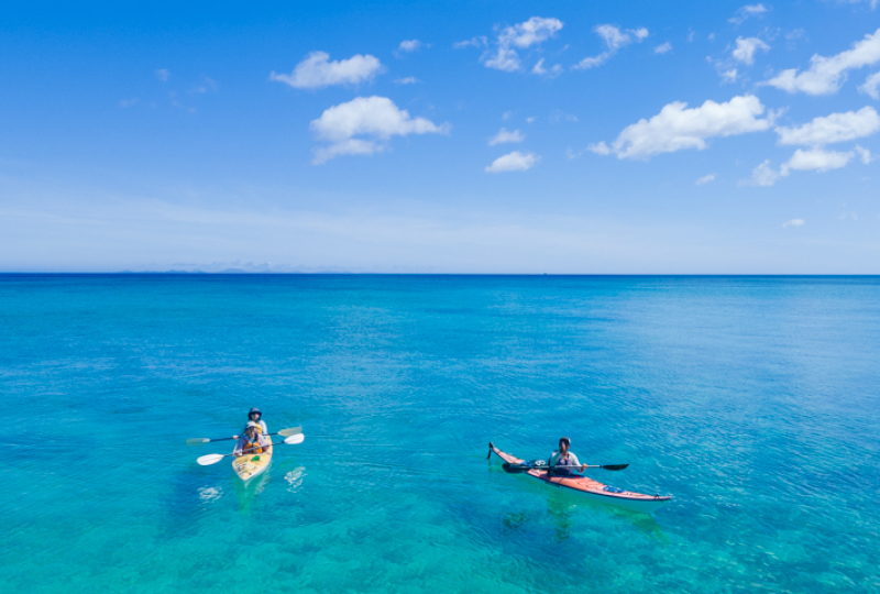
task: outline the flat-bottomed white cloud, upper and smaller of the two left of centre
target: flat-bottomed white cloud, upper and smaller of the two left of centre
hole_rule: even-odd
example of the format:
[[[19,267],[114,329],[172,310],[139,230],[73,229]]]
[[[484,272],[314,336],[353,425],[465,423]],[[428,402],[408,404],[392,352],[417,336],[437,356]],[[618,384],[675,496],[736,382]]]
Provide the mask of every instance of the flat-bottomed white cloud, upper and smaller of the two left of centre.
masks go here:
[[[289,75],[274,72],[271,80],[290,85],[297,89],[319,89],[331,85],[358,85],[372,80],[383,70],[377,57],[355,54],[349,59],[330,62],[327,52],[312,52]]]

